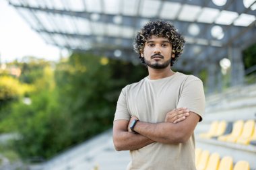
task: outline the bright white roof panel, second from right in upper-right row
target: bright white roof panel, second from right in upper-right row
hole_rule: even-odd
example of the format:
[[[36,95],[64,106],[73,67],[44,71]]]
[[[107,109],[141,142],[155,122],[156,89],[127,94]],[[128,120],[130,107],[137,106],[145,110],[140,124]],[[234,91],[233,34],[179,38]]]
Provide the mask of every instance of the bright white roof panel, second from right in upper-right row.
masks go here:
[[[216,18],[216,24],[230,25],[238,17],[238,13],[233,11],[221,11],[220,15]]]

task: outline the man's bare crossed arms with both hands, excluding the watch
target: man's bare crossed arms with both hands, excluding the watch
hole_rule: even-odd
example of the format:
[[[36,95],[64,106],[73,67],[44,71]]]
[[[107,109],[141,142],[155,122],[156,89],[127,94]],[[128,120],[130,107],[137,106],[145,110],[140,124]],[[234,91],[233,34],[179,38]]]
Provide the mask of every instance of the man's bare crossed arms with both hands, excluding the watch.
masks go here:
[[[127,120],[116,120],[113,126],[113,142],[117,151],[135,150],[153,142],[178,144],[187,142],[193,134],[199,115],[190,112],[187,108],[172,110],[166,114],[164,122],[147,123],[137,122],[135,132],[131,132],[129,124],[136,117]]]

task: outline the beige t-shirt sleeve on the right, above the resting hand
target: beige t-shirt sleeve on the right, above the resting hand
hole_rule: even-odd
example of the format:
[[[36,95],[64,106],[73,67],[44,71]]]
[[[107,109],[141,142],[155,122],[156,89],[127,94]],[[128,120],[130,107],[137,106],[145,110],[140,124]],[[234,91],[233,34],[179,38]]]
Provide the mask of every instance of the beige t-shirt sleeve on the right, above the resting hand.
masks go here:
[[[198,114],[200,116],[199,122],[201,122],[205,111],[205,95],[203,83],[197,77],[189,76],[184,83],[177,108],[183,107]]]

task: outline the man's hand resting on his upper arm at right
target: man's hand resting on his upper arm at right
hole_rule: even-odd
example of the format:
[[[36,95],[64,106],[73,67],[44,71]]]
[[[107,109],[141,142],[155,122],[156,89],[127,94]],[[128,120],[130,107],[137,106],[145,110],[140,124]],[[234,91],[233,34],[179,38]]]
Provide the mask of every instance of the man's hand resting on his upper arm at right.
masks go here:
[[[164,122],[176,124],[185,120],[187,116],[189,116],[189,110],[187,108],[177,108],[166,114]]]

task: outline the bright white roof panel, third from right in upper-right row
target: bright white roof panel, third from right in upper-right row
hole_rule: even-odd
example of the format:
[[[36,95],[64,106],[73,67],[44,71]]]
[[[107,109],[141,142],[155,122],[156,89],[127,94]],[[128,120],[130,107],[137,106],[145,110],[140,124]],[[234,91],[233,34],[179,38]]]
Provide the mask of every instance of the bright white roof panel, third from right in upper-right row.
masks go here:
[[[203,7],[199,17],[197,18],[197,22],[213,23],[216,16],[219,13],[220,13],[220,10],[218,9]]]

